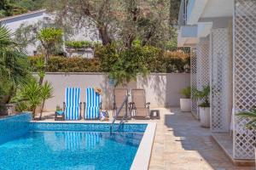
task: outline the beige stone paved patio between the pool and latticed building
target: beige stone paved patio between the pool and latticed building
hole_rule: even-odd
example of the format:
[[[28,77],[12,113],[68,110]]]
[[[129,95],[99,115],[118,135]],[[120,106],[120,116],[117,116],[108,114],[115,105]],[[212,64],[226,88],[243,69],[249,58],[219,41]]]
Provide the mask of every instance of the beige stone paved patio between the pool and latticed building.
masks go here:
[[[110,115],[112,115],[111,112]],[[44,118],[46,118],[44,121],[53,120],[54,114],[44,113]],[[254,169],[253,167],[234,167],[224,151],[212,139],[210,130],[201,127],[200,122],[195,120],[189,112],[181,112],[176,108],[171,110],[161,108],[160,120],[148,121],[157,122],[150,170]]]

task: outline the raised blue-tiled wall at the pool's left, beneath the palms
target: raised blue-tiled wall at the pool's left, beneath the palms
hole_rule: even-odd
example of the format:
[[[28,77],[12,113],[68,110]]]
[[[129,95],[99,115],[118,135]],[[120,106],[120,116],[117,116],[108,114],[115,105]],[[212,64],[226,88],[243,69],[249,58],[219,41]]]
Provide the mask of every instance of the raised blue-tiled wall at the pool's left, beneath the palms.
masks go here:
[[[26,133],[31,120],[32,116],[29,113],[0,117],[0,144]]]

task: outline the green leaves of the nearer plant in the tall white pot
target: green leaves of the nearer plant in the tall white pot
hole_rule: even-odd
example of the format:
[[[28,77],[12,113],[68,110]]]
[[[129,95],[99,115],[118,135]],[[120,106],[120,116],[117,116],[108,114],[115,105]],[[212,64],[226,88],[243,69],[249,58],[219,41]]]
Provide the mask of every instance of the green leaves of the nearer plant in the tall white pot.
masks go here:
[[[201,99],[200,107],[210,107],[209,95],[211,92],[210,86],[204,86],[202,90],[195,90],[195,99]]]

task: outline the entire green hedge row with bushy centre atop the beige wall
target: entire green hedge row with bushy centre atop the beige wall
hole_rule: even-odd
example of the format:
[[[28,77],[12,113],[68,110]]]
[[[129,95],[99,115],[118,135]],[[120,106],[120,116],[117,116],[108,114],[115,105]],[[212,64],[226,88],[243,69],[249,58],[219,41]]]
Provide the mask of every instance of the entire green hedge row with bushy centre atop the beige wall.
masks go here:
[[[33,71],[38,70],[41,56],[30,57]],[[46,71],[51,72],[110,72],[112,77],[132,79],[139,72],[189,72],[189,54],[166,52],[152,46],[134,45],[132,48],[118,50],[115,44],[97,46],[94,59],[81,57],[66,58],[52,56],[49,58]],[[126,74],[126,76],[125,76]],[[120,81],[123,82],[123,81]]]

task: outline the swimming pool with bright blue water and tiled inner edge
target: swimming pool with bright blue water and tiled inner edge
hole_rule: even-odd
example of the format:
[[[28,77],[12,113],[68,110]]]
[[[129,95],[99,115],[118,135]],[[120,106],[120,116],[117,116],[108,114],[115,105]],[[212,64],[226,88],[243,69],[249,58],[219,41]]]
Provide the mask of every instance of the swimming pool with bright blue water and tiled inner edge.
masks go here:
[[[20,136],[0,138],[0,169],[130,169],[147,126],[109,133],[109,123],[21,123]]]

